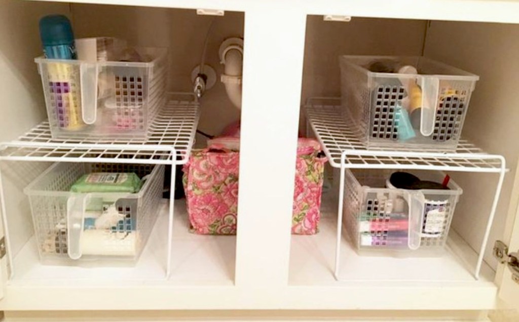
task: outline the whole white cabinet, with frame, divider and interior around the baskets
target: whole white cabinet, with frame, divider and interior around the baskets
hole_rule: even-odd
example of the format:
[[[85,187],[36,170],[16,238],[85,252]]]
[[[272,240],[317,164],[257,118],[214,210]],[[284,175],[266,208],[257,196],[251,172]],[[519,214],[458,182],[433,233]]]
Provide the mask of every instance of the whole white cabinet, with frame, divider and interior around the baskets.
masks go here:
[[[7,241],[7,255],[1,260],[4,283],[0,310],[482,311],[498,307],[498,299],[519,306],[519,283],[492,254],[497,239],[507,243],[511,252],[519,249],[519,96],[515,89],[519,75],[519,3],[95,3],[10,0],[0,4],[0,141],[5,142],[0,151],[5,196],[5,222],[0,234]],[[198,8],[222,9],[225,16],[197,16],[194,9]],[[176,92],[192,90],[190,73],[199,61],[204,37],[214,19],[207,62],[218,77],[222,72],[218,46],[227,37],[244,37],[241,111],[230,104],[222,84],[217,82],[199,102],[199,121],[194,107],[197,104],[189,105],[184,99],[172,103],[177,110],[180,105],[192,106],[187,108],[191,113],[190,123],[184,124],[187,129],[167,130],[177,134],[171,134],[169,141],[155,142],[147,150],[134,143],[111,147],[51,141],[45,129],[35,128],[46,116],[33,62],[40,53],[37,21],[49,13],[69,15],[77,37],[117,36],[143,46],[168,47],[168,89]],[[348,20],[351,16],[351,22],[324,21],[323,15],[333,15],[331,20]],[[487,224],[499,186],[500,159],[493,159],[497,162],[492,168],[495,171],[484,174],[483,166],[477,164],[483,162],[480,159],[456,167],[441,159],[445,156],[426,156],[437,158],[441,166],[425,163],[424,169],[461,171],[452,174],[464,193],[454,215],[446,256],[358,256],[341,235],[336,239],[338,185],[323,195],[321,232],[315,236],[290,235],[298,127],[305,129],[311,123],[306,119],[311,118],[308,99],[340,95],[340,54],[425,55],[481,77],[463,134],[477,147],[504,156],[509,169],[501,198],[495,204],[491,228]],[[165,114],[164,118],[166,121],[185,116]],[[135,267],[56,267],[39,263],[30,208],[22,189],[49,165],[45,161],[99,161],[106,156],[113,161],[117,153],[128,152],[141,153],[149,163],[172,164],[176,158],[170,154],[171,147],[188,153],[197,122],[200,129],[216,134],[239,117],[242,131],[237,236],[190,234],[185,204],[179,201],[168,207],[165,200],[152,237]],[[183,131],[190,133],[185,145],[179,144]],[[29,134],[17,139],[23,133]],[[201,137],[197,138],[201,141]],[[339,156],[341,149],[336,151]],[[149,157],[153,153],[164,153],[168,158]],[[337,245],[341,246],[339,257],[346,272],[339,281],[333,274]],[[474,276],[478,275],[476,271],[480,272],[479,279]]]

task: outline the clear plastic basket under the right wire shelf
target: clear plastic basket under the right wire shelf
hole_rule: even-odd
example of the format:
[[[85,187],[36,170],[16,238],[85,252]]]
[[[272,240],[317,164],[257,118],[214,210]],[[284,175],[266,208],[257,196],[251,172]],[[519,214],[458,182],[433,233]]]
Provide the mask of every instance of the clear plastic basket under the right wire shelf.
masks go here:
[[[394,171],[346,170],[344,222],[360,254],[438,256],[463,192],[452,180],[448,190],[396,189]],[[436,171],[405,171],[421,180],[443,183]],[[387,187],[390,188],[387,188]]]

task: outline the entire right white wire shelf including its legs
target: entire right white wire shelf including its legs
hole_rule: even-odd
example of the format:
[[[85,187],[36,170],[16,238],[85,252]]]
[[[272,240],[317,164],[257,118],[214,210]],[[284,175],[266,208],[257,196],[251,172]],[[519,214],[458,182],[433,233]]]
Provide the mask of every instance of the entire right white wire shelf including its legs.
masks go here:
[[[340,169],[334,270],[337,280],[340,280],[340,242],[343,229],[346,169],[407,169],[499,174],[485,234],[473,272],[474,278],[479,279],[484,251],[501,194],[504,174],[507,172],[506,162],[502,156],[485,153],[480,148],[463,140],[460,140],[456,152],[450,153],[435,149],[366,149],[344,121],[340,99],[311,98],[305,104],[305,111],[307,121],[323,146],[330,165]]]

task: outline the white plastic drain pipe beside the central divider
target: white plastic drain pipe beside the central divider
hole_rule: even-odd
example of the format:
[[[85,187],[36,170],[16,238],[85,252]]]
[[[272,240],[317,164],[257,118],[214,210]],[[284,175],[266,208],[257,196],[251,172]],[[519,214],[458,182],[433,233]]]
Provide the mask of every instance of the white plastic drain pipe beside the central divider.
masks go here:
[[[241,108],[241,74],[243,57],[240,50],[232,48],[225,54],[225,69],[222,82],[231,103]]]

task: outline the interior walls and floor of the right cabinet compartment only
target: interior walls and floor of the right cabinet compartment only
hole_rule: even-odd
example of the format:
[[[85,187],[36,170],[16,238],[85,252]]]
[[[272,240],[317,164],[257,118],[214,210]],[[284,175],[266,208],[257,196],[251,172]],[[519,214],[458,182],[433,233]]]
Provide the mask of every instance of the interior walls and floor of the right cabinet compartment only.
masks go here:
[[[310,97],[340,97],[339,55],[424,55],[479,75],[476,89],[471,97],[462,139],[468,139],[483,150],[503,155],[507,160],[508,174],[505,177],[501,198],[497,208],[493,227],[485,251],[484,279],[493,280],[493,271],[497,261],[492,255],[496,239],[503,238],[507,226],[510,191],[515,177],[517,149],[512,141],[517,117],[510,113],[510,105],[516,104],[516,95],[509,79],[517,78],[517,68],[513,61],[513,49],[517,47],[516,25],[497,23],[420,21],[397,19],[352,18],[350,22],[327,22],[321,16],[308,16],[305,41],[305,61],[303,69],[302,104]],[[496,35],[498,35],[496,37]],[[510,56],[510,57],[509,57]],[[490,107],[491,106],[491,107]],[[491,111],[490,111],[491,110]],[[304,111],[302,110],[302,115]],[[301,127],[306,127],[304,116]],[[311,130],[310,130],[311,132]],[[448,246],[457,253],[455,258],[462,258],[466,263],[473,262],[475,249],[479,249],[483,240],[486,220],[494,198],[498,176],[481,173],[448,173],[462,187],[463,194],[456,206]],[[338,172],[332,175],[338,177]],[[336,195],[333,189],[331,205],[323,212],[323,224],[331,234],[336,229]],[[323,203],[326,204],[326,194]],[[326,218],[330,214],[331,218]],[[331,227],[327,227],[330,225]],[[344,232],[343,232],[344,233]],[[305,284],[311,278],[312,270],[317,270],[323,262],[331,268],[334,263],[335,239],[325,240],[322,235],[319,242],[304,241],[304,237],[292,237],[291,283]],[[322,244],[328,243],[326,247]],[[319,247],[319,244],[322,247]],[[295,246],[294,246],[295,245]],[[473,281],[470,273],[463,273],[459,263],[435,262],[431,259],[370,259],[356,257],[356,252],[345,242],[344,266],[347,281],[371,279],[402,279],[419,281],[463,280]],[[307,251],[304,251],[304,250]],[[332,249],[332,250],[331,250]],[[461,253],[460,253],[460,249]],[[478,250],[479,251],[479,250]],[[469,253],[472,255],[469,256]],[[316,256],[312,256],[316,255]],[[316,257],[321,256],[318,260]],[[309,260],[312,258],[313,260]],[[348,263],[348,260],[350,262]],[[392,264],[389,264],[395,260]],[[363,264],[359,263],[362,262]],[[456,260],[455,260],[456,261]],[[399,264],[403,264],[398,269]],[[376,268],[363,270],[364,267],[388,265],[394,270],[374,276]],[[431,270],[437,266],[438,269]],[[468,267],[470,267],[469,264]],[[302,269],[303,267],[303,269]],[[413,274],[406,267],[416,268]],[[442,269],[448,274],[435,274]],[[308,270],[306,270],[308,268]],[[421,273],[419,273],[421,271]],[[457,275],[457,273],[460,275]],[[329,272],[326,272],[329,273]],[[323,272],[323,276],[326,275]],[[466,274],[469,273],[469,274]],[[463,275],[463,276],[462,276]],[[457,277],[456,277],[457,276]],[[326,279],[323,277],[323,279]]]

